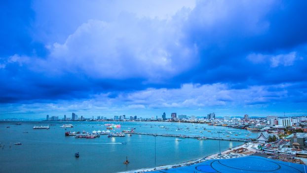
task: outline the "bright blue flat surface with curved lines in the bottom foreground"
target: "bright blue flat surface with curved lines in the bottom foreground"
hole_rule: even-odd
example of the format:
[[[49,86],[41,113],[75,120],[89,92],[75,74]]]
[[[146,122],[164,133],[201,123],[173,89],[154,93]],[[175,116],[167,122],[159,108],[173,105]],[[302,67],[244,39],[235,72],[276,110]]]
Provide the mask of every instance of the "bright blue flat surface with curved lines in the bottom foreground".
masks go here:
[[[259,156],[212,159],[186,167],[150,173],[306,173],[306,165],[276,161]]]

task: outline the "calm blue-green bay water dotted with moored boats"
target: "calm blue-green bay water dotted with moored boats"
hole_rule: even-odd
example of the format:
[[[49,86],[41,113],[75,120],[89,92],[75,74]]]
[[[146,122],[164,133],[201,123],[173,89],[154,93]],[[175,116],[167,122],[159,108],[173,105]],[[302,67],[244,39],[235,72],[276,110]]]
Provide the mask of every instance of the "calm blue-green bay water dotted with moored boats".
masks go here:
[[[101,135],[98,138],[85,139],[64,135],[65,131],[69,130],[107,130],[103,126],[106,123],[120,124],[121,128],[115,129],[115,132],[136,128],[136,132],[218,136],[216,131],[222,131],[225,134],[221,134],[222,137],[230,135],[237,138],[246,138],[245,135],[248,133],[247,130],[190,123],[22,122],[21,126],[12,123],[17,122],[0,122],[0,143],[4,144],[4,147],[0,148],[0,173],[116,173],[154,167],[153,136],[132,134],[108,138],[107,135]],[[55,125],[50,126],[50,130],[32,129],[35,125],[50,124]],[[63,124],[73,124],[74,128],[60,128]],[[169,130],[161,129],[160,126]],[[187,130],[187,127],[190,129]],[[228,131],[232,134],[227,133]],[[252,133],[251,137],[255,136],[256,134]],[[14,145],[16,142],[21,142],[22,145]],[[240,144],[242,142],[221,141],[221,150]],[[183,138],[182,141],[177,141],[175,137],[157,136],[156,166],[203,158],[217,153],[218,146],[218,140]],[[79,158],[75,158],[75,152],[79,152]],[[123,164],[126,156],[130,161],[129,165]]]

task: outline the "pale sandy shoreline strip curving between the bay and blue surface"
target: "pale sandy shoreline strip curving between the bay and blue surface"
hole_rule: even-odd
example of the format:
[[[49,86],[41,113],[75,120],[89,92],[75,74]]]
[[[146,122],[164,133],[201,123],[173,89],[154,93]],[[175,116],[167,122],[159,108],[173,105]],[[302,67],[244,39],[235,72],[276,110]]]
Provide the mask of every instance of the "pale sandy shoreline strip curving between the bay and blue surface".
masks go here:
[[[248,145],[248,146],[246,146],[246,145]],[[252,147],[255,146],[255,145],[258,145],[258,144],[255,144],[255,143],[252,143],[252,142],[243,143],[243,144],[238,145],[234,148],[224,150],[223,152],[221,152],[221,154],[222,154],[222,156],[228,155],[233,150],[236,150],[236,149],[239,149],[239,148],[245,148],[245,149],[247,149],[247,151],[249,151],[248,153],[245,153],[243,155],[237,155],[237,154],[233,153],[233,155],[234,156],[237,155],[237,156],[240,156],[240,157],[248,156],[248,155],[251,155],[251,154],[256,152],[255,149],[252,149]],[[211,160],[211,159],[225,159],[225,158],[219,158],[219,153],[217,153],[217,154],[212,154],[212,155],[206,156],[204,158],[194,159],[194,160],[183,162],[183,163],[180,163],[180,164],[156,167],[156,169],[147,168],[147,169],[138,169],[138,170],[132,170],[132,171],[126,171],[126,172],[118,172],[118,173],[147,173],[147,172],[153,172],[153,171],[158,171],[158,170],[165,170],[165,169],[172,169],[172,168],[177,168],[177,167],[190,166],[190,165],[198,164],[198,163],[205,162],[205,161],[208,161],[208,160]],[[228,158],[226,158],[226,159],[228,159]]]

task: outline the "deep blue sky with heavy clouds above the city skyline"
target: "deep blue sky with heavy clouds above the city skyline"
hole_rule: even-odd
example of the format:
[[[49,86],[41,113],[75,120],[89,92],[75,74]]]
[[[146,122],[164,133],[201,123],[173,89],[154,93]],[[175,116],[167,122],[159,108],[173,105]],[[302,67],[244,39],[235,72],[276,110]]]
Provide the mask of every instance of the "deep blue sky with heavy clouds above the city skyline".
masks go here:
[[[1,0],[0,119],[307,115],[306,0]]]

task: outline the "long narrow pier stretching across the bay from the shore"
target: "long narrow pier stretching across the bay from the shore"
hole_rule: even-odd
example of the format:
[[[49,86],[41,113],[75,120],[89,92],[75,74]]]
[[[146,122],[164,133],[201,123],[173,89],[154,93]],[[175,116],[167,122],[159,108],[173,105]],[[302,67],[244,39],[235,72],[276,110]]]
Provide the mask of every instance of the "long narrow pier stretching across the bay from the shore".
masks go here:
[[[223,137],[208,137],[208,136],[200,136],[200,135],[182,135],[182,134],[156,134],[156,133],[141,133],[141,132],[129,132],[131,134],[142,134],[142,135],[156,135],[156,136],[164,136],[164,137],[180,137],[180,138],[200,138],[200,137],[205,137],[206,139],[214,139],[214,140],[230,140],[230,141],[247,141],[247,140],[252,140],[253,138],[223,138]]]

